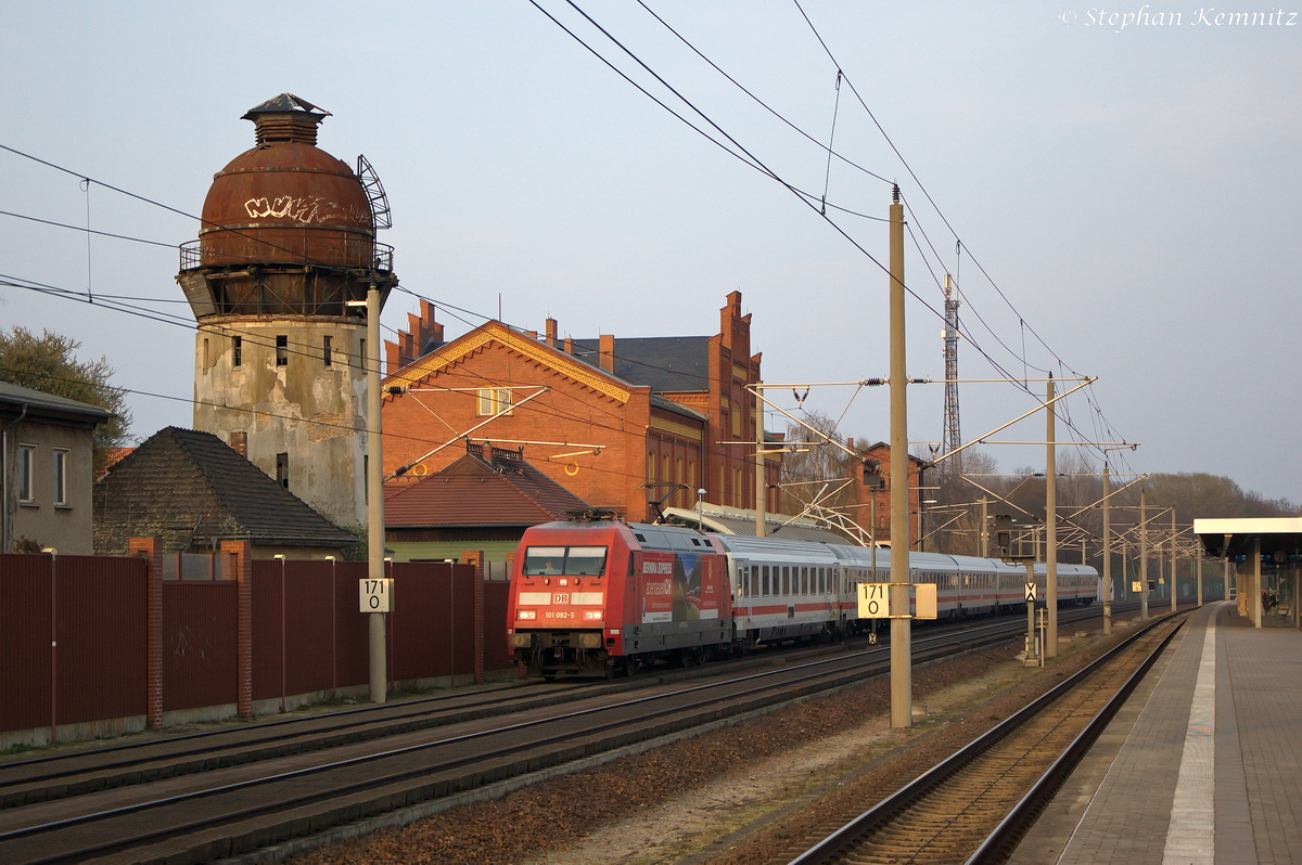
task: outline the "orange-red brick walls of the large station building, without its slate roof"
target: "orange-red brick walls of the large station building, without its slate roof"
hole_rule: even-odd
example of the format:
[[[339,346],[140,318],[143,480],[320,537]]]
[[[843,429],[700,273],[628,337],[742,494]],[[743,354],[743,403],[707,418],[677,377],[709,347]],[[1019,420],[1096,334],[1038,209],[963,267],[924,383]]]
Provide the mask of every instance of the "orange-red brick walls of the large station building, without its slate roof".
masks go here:
[[[548,326],[555,330],[553,321]],[[617,338],[602,339],[618,355]],[[540,386],[551,390],[469,434],[504,446],[514,446],[510,441],[570,442],[525,445],[526,458],[589,503],[612,507],[631,520],[654,518],[647,501],[665,493],[665,506],[694,507],[698,489],[706,490],[710,503],[754,507],[755,398],[746,385],[760,380],[760,360],[759,354],[750,354],[750,316],[741,313],[741,293],[733,291],[720,310],[720,332],[708,342],[710,389],[661,394],[704,415],[702,423],[651,406],[650,388],[630,388],[570,359],[565,341],[555,336],[535,338],[490,323],[385,381],[387,386],[410,386],[406,394],[384,397],[385,473],[418,460],[411,471],[424,475],[457,459],[457,440],[486,420],[477,411],[478,389]],[[514,392],[514,402],[529,393]],[[719,444],[733,441],[743,444]],[[453,444],[422,459],[445,442]],[[582,445],[605,447],[599,455],[548,459],[573,454]],[[766,472],[767,509],[776,511],[780,455],[769,457]],[[671,492],[673,484],[685,489]]]

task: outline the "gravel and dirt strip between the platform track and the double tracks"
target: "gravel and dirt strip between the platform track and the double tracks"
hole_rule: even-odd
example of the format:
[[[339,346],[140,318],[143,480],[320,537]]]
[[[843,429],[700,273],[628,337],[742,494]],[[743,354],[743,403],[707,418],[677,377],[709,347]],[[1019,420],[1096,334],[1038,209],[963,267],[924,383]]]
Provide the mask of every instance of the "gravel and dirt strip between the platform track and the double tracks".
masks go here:
[[[1087,636],[1043,671],[1013,661],[1012,646],[915,669],[915,715],[926,714],[907,731],[889,728],[879,678],[292,861],[786,862],[819,814],[863,810],[1092,659],[1099,624],[1073,627]]]

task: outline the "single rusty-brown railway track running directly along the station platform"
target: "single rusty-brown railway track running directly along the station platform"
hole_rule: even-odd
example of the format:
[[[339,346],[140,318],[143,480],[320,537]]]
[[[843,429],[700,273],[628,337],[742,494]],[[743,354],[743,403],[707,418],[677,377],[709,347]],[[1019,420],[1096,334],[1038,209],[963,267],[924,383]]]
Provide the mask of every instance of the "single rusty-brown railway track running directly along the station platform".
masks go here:
[[[790,865],[1005,861],[1182,624],[1177,614],[1130,636],[871,809],[824,827]]]

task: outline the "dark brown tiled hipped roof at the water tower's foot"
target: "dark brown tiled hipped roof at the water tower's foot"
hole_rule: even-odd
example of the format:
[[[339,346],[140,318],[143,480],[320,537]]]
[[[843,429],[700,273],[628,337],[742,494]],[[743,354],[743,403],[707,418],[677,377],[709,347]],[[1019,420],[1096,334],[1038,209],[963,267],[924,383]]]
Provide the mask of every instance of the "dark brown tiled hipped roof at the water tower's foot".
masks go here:
[[[161,537],[164,553],[247,539],[254,558],[324,558],[357,542],[212,433],[177,427],[95,484],[95,553],[125,555],[132,537]]]

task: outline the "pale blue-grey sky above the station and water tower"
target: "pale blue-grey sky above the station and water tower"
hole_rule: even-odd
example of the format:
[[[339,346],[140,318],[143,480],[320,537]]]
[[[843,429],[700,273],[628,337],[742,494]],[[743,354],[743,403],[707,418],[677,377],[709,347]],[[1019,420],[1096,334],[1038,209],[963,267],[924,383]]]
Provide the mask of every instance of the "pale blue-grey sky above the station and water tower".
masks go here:
[[[0,0],[0,144],[66,169],[0,150],[0,280],[64,291],[0,287],[0,326],[48,328],[107,358],[115,384],[137,392],[142,438],[191,424],[194,332],[174,247],[198,224],[185,215],[253,146],[241,114],[292,92],[331,112],[320,147],[375,166],[393,213],[380,239],[401,285],[445,304],[449,337],[499,303],[508,323],[542,330],[553,316],[574,337],[712,334],[738,290],[767,381],[885,377],[881,220],[898,182],[910,377],[944,379],[948,272],[962,299],[960,377],[1004,380],[960,386],[963,441],[1034,408],[1049,371],[1068,388],[1098,376],[1057,424],[1060,441],[1096,442],[1082,449],[1096,466],[1100,445],[1138,444],[1108,451],[1115,471],[1211,472],[1302,501],[1302,407],[1289,397],[1302,384],[1302,14]],[[156,245],[87,243],[21,217]],[[182,321],[86,303],[87,290]],[[383,324],[405,326],[415,310],[396,293]],[[943,434],[943,398],[941,384],[909,388],[922,453]],[[785,392],[777,401],[797,410]],[[884,388],[814,386],[801,407],[888,438]],[[1043,414],[992,440],[1043,441]],[[986,453],[1004,471],[1043,471],[1043,446]]]

